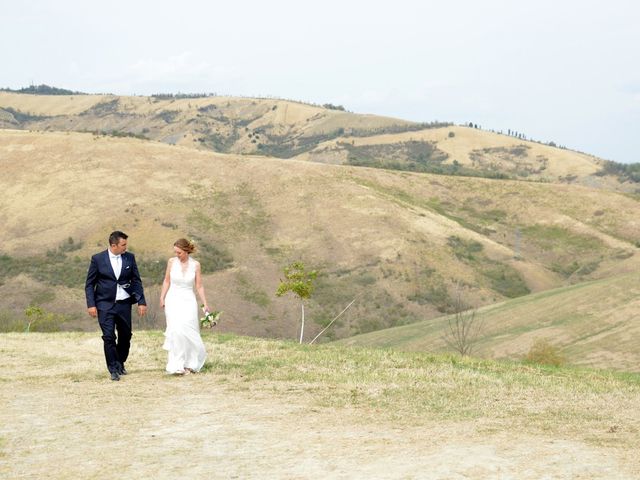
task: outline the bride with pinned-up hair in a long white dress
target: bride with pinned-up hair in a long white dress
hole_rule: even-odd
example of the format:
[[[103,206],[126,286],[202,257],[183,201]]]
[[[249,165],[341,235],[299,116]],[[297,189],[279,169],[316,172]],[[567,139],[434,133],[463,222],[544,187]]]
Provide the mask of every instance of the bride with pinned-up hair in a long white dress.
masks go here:
[[[198,302],[193,287],[208,310],[204,294],[200,262],[190,257],[195,246],[180,238],[173,244],[176,254],[167,262],[160,293],[160,307],[165,309],[167,329],[162,348],[168,351],[167,373],[185,375],[200,371],[207,358],[200,337]]]

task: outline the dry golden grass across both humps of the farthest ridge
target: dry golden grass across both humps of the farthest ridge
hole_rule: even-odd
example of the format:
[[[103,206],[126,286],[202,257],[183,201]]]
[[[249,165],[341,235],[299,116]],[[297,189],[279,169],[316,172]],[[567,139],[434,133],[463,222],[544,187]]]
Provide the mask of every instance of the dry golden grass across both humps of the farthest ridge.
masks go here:
[[[515,178],[534,181],[573,182],[613,190],[634,189],[633,185],[622,184],[614,177],[594,175],[600,170],[601,161],[588,154],[468,127],[416,130],[417,124],[401,119],[353,114],[279,99],[160,99],[0,92],[0,108],[43,117],[29,124],[31,126],[28,128],[33,129],[135,132],[165,143],[242,154],[260,153],[258,146],[263,142],[269,144],[275,137],[285,139],[285,143],[292,142],[288,144],[292,147],[308,137],[329,135],[330,140],[297,153],[299,159],[321,163],[347,162],[347,152],[339,145],[341,142],[356,147],[394,145],[407,141],[433,142],[439,150],[448,154],[448,164],[455,160],[460,165],[476,170],[491,165],[491,168]],[[4,126],[10,127],[11,124]],[[398,128],[414,131],[379,134]],[[345,133],[337,134],[339,131]],[[366,137],[350,137],[351,131],[368,131],[370,134]],[[259,132],[260,135],[253,136]],[[279,140],[275,141],[277,144]],[[504,153],[520,147],[526,150],[522,156]],[[275,152],[278,151],[276,148]],[[275,156],[280,155],[275,153]],[[479,163],[476,164],[476,160]],[[530,170],[530,173],[525,175],[523,170]]]

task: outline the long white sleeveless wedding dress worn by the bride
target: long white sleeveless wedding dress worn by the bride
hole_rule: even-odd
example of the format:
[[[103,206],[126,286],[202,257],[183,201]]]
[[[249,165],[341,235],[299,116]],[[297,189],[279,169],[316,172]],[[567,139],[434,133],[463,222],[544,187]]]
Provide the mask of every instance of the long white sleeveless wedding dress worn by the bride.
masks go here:
[[[175,258],[170,271],[170,286],[165,297],[167,329],[162,348],[169,352],[168,373],[184,373],[186,369],[199,371],[207,358],[200,337],[198,302],[193,291],[196,278],[196,262],[189,257],[183,270]]]

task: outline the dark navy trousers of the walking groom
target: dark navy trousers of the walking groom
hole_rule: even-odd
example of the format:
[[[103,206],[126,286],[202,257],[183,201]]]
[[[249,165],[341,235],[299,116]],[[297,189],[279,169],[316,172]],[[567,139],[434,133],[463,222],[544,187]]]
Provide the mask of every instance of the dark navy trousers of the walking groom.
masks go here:
[[[109,310],[98,310],[98,322],[107,369],[118,372],[127,361],[131,346],[131,304],[115,303]]]

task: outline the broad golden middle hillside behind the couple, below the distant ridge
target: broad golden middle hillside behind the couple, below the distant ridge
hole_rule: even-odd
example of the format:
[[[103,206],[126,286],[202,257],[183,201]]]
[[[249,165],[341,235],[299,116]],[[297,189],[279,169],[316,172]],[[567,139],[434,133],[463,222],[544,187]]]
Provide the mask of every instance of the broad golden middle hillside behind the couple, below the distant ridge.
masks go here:
[[[175,238],[197,237],[235,262],[209,275],[208,286],[243,333],[295,337],[295,303],[272,292],[282,266],[296,259],[324,272],[309,309],[317,322],[358,298],[331,332],[339,336],[433,318],[447,308],[455,283],[473,285],[470,301],[487,304],[508,294],[505,274],[517,272],[540,291],[633,271],[638,263],[640,204],[602,190],[222,155],[78,133],[5,130],[0,151],[4,253],[44,255],[72,237],[83,245],[74,253],[83,270],[108,232],[122,228],[141,258],[162,264]],[[99,200],[96,192],[105,190],[111,196]],[[463,242],[452,246],[452,238]],[[156,277],[162,265],[159,271]],[[10,295],[16,285],[18,294]],[[0,286],[18,309],[33,295],[47,297],[48,288],[24,277]],[[51,308],[82,310],[81,290],[53,294]]]

